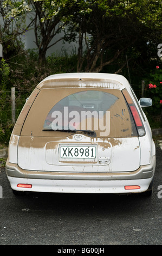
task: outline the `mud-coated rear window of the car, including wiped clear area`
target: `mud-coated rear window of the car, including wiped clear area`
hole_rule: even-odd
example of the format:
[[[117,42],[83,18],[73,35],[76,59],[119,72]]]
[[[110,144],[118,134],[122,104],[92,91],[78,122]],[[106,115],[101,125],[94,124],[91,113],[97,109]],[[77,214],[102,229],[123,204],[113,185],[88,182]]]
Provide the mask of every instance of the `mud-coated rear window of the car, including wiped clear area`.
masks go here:
[[[42,89],[22,135],[67,137],[75,130],[94,131],[96,137],[137,136],[121,91],[103,88]]]

